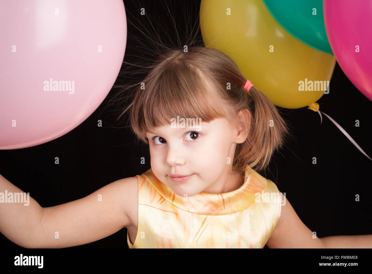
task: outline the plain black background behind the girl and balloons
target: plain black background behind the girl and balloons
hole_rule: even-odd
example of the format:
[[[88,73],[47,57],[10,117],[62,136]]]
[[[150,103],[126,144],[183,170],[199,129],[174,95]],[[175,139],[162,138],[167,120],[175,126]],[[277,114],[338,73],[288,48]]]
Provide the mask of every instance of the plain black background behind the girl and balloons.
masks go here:
[[[126,16],[138,21],[153,19],[152,24],[156,25],[159,24],[156,14],[165,24],[172,25],[173,19],[166,15],[168,11],[160,2],[164,1],[139,4],[125,0]],[[177,29],[185,29],[185,8],[192,12],[191,20],[198,18],[200,1],[167,2],[173,7]],[[150,18],[140,16],[141,7],[145,7]],[[174,33],[168,34],[171,38],[167,39],[173,39]],[[128,35],[141,37],[141,32],[128,24]],[[202,39],[200,31],[198,38]],[[134,47],[134,44],[127,45],[124,61],[129,54],[141,58]],[[115,84],[125,79],[125,74],[119,75]],[[113,88],[109,96],[118,90]],[[336,120],[372,157],[369,135],[372,102],[350,82],[338,63],[331,78],[330,93],[317,103],[320,111]],[[278,109],[293,127],[295,139],[275,152],[266,178],[286,193],[299,218],[318,237],[372,234],[369,196],[372,161],[325,115],[321,124],[319,114],[307,107]],[[88,119],[60,138],[35,147],[1,150],[0,174],[23,192],[29,192],[42,207],[51,207],[83,198],[115,180],[143,173],[150,168],[148,147],[135,143],[129,128],[113,128],[112,125],[117,125],[110,110],[105,100]],[[103,127],[97,127],[97,120],[102,120]],[[360,121],[359,127],[355,126],[356,120]],[[54,164],[55,157],[59,157],[60,164]],[[145,165],[140,164],[141,157],[145,157]],[[317,164],[312,164],[312,157],[317,158]],[[360,195],[359,202],[355,201],[356,194]],[[0,246],[20,248],[1,233]],[[128,248],[126,229],[71,248]]]

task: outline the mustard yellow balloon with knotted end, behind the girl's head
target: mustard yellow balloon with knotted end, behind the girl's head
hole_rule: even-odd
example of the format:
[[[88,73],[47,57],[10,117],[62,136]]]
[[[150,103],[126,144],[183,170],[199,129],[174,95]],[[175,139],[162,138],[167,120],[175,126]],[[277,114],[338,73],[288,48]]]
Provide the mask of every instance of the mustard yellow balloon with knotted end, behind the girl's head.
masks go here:
[[[335,57],[288,34],[261,0],[202,0],[200,25],[205,46],[230,56],[273,104],[305,107],[327,90]]]

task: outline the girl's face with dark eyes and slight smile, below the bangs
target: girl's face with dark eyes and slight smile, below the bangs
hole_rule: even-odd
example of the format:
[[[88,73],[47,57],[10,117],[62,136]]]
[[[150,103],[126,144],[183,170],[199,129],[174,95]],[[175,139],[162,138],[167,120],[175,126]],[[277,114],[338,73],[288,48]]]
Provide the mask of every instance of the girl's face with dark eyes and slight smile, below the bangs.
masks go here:
[[[202,122],[199,128],[157,127],[146,136],[154,175],[177,195],[225,193],[238,188],[241,175],[232,171],[232,160],[236,144],[247,138],[241,127],[220,118]],[[173,174],[193,175],[174,182]]]

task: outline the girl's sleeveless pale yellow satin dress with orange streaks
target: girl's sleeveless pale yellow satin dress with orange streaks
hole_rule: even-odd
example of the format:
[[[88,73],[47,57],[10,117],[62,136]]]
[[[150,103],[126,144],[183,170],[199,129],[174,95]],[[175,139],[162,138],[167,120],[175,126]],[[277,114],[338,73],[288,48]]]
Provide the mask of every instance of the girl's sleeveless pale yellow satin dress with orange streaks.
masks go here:
[[[137,177],[138,231],[133,245],[127,233],[129,248],[263,248],[279,223],[278,188],[248,165],[244,184],[220,194],[179,196],[151,169]]]

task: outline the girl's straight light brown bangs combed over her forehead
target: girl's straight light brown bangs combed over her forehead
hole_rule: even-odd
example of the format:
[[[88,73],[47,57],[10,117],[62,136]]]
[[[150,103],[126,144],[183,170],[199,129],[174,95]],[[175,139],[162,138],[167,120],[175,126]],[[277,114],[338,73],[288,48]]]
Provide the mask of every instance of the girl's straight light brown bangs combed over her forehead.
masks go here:
[[[187,70],[186,70],[187,71]],[[217,87],[207,86],[196,72],[177,75],[175,71],[164,73],[142,92],[141,100],[135,105],[132,117],[132,129],[144,141],[148,142],[146,132],[154,127],[171,125],[171,119],[192,119],[189,127],[195,127],[195,121],[208,123],[214,119],[229,117],[227,104]],[[192,74],[192,75],[187,75]],[[187,81],[197,79],[197,81]],[[201,120],[197,120],[201,119]]]

